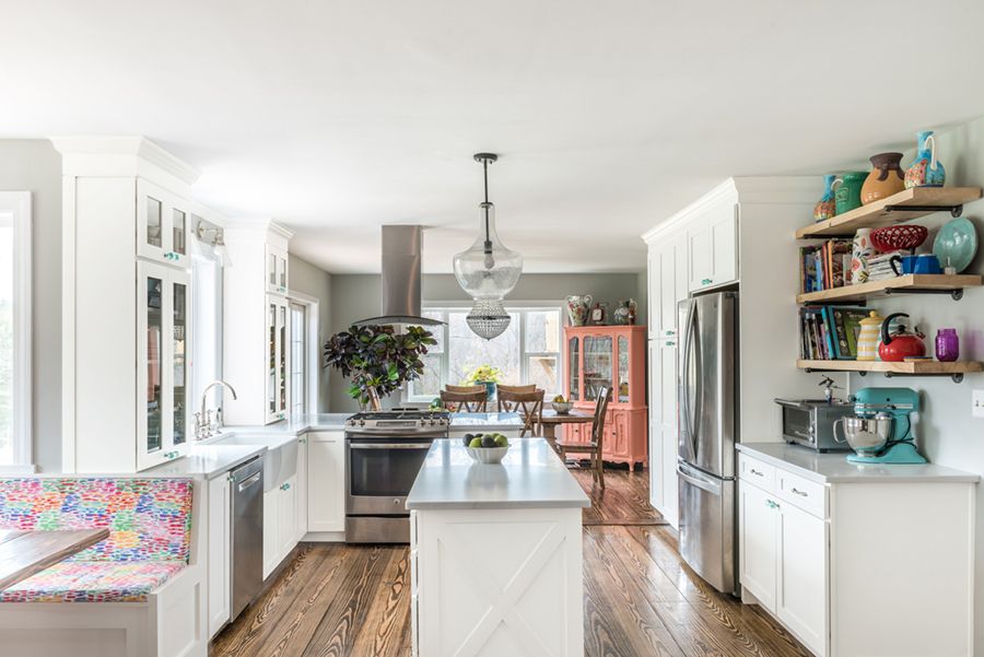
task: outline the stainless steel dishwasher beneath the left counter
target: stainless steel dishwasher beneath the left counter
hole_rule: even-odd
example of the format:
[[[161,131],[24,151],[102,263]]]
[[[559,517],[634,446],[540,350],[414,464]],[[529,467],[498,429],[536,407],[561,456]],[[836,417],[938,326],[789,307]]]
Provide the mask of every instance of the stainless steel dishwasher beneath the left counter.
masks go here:
[[[230,621],[234,621],[263,587],[263,457],[232,471],[230,570]]]

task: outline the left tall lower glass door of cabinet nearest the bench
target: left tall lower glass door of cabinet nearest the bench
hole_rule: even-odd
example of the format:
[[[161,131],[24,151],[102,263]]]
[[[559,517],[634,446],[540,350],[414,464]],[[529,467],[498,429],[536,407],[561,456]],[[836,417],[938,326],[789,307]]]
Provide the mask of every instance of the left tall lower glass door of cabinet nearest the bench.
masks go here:
[[[161,451],[164,447],[164,278],[144,274],[143,312],[147,319],[147,336],[143,341],[147,367],[145,417],[143,450],[147,454]]]

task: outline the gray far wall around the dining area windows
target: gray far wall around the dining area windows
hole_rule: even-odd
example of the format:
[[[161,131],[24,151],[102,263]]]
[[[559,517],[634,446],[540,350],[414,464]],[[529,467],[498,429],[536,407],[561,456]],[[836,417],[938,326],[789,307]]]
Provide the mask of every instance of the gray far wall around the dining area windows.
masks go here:
[[[293,277],[291,271],[291,277]],[[590,294],[595,301],[607,301],[609,310],[619,300],[635,298],[639,302],[639,324],[645,324],[645,273],[529,273],[509,294],[512,301],[561,301],[569,294]],[[293,283],[293,280],[292,280]],[[424,303],[460,302],[469,297],[452,274],[424,274],[422,282]],[[379,277],[377,274],[333,274],[331,277],[331,332],[343,331],[358,320],[379,314]],[[355,401],[347,394],[348,385],[338,374],[331,373],[329,409],[332,412],[358,410]],[[393,403],[390,400],[389,403]]]

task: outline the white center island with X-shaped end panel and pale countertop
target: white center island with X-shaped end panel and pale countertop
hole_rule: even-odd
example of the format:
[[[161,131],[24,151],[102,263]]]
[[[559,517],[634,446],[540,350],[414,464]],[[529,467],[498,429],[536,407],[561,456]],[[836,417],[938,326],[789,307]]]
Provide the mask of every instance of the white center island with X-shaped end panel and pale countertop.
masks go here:
[[[542,438],[514,441],[501,466],[434,441],[407,498],[413,654],[583,657],[589,504]]]

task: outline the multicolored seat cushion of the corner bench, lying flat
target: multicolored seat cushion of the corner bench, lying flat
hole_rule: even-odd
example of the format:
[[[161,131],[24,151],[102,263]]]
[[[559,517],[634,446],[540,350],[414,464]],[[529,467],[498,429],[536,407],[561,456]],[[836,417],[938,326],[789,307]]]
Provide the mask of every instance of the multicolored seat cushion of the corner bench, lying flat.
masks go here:
[[[63,561],[0,591],[0,602],[143,602],[185,564]]]

